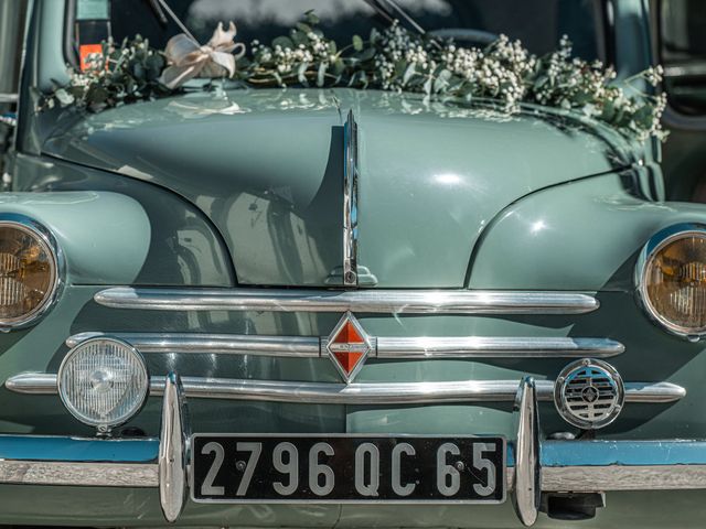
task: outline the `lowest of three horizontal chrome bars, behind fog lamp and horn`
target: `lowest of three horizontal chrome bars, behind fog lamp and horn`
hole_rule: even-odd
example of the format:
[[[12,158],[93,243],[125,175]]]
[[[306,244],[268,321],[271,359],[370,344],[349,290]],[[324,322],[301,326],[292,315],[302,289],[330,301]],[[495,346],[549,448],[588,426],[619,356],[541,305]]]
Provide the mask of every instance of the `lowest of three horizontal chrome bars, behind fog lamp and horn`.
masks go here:
[[[184,395],[196,399],[257,400],[310,404],[405,404],[440,402],[513,402],[517,380],[461,380],[452,382],[332,384],[229,378],[182,377]],[[10,391],[55,395],[56,375],[22,374],[4,382]],[[554,381],[536,380],[537,400],[554,398]],[[151,396],[164,392],[163,377],[152,377]],[[667,403],[686,390],[671,382],[627,382],[625,402]]]

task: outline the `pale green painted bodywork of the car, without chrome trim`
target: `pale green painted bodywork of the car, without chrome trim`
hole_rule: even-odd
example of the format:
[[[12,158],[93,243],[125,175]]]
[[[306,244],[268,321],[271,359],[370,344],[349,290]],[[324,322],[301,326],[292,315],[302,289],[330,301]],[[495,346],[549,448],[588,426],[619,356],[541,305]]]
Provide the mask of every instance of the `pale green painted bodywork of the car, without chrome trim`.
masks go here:
[[[649,63],[645,2],[610,6],[614,56],[625,77]],[[68,274],[56,305],[36,325],[0,334],[0,382],[21,373],[56,373],[68,350],[65,339],[85,332],[328,336],[341,314],[121,310],[99,305],[94,296],[113,285],[331,288],[327,279],[341,263],[335,166],[342,162],[344,116],[352,109],[361,131],[360,262],[377,281],[368,287],[580,291],[600,303],[580,315],[356,313],[366,333],[611,338],[625,345],[610,358],[624,380],[668,381],[687,392],[675,402],[631,402],[596,438],[706,438],[704,344],[667,335],[634,299],[634,258],[646,238],[670,224],[706,218],[698,206],[661,202],[653,145],[560,111],[528,107],[499,120],[483,105],[463,108],[346,89],[194,93],[87,119],[62,114],[57,120],[52,112],[34,114],[38,96],[30,87],[66,80],[56,22],[66,2],[35,0],[34,7],[26,41],[32,67],[24,71],[19,152],[11,158],[18,195],[0,201],[0,212],[46,224],[67,255]],[[325,357],[146,357],[154,376],[341,382]],[[568,361],[370,358],[356,382],[545,380]],[[161,404],[150,397],[125,433],[158,435]],[[0,409],[0,433],[95,435],[55,395],[24,395],[3,385]],[[511,402],[341,406],[194,398],[189,410],[194,432],[486,433],[510,443],[516,435]],[[543,436],[570,430],[552,402],[538,410]],[[608,493],[608,507],[581,526],[702,527],[703,499],[699,490]],[[127,527],[159,526],[164,518],[157,489],[0,485],[0,521]],[[179,523],[520,526],[510,500],[404,508],[188,500]],[[567,522],[541,515],[537,527]]]

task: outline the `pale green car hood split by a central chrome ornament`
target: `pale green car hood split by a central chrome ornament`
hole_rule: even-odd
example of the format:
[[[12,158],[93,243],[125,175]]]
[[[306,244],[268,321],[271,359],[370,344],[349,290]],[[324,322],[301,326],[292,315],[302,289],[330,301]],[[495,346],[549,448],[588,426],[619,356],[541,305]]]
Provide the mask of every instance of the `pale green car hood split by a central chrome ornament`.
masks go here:
[[[351,109],[359,264],[378,287],[462,287],[474,244],[503,208],[634,161],[624,140],[573,117],[349,89],[194,93],[69,116],[43,150],[193,202],[224,236],[240,284],[336,284]]]

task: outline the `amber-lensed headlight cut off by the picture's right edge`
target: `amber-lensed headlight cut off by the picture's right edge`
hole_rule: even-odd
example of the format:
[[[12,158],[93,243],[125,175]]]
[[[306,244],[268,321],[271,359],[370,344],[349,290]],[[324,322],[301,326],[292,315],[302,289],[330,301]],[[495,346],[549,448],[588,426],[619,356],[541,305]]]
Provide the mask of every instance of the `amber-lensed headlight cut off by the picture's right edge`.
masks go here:
[[[643,248],[635,276],[652,319],[689,339],[706,334],[706,226],[681,224],[656,234]]]

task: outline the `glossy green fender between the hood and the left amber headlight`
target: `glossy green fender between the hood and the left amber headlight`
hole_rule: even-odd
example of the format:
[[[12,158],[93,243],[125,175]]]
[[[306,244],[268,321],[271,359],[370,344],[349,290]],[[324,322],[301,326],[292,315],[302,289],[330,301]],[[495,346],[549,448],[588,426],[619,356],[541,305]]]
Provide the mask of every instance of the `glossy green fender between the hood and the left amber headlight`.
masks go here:
[[[36,216],[55,233],[68,282],[233,285],[233,264],[217,230],[173,193],[23,154],[14,159],[14,174],[13,186],[22,191],[0,194],[0,203]]]

